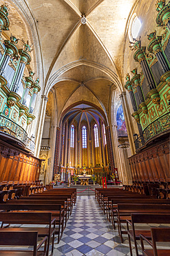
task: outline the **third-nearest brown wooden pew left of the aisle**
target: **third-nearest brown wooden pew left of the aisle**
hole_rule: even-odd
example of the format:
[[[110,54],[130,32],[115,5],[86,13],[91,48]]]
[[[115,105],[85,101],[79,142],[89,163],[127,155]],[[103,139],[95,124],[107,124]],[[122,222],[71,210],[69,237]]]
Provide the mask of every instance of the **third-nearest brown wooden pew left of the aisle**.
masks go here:
[[[64,216],[61,214],[61,205],[45,205],[45,204],[11,204],[11,203],[0,203],[0,210],[7,211],[36,211],[36,212],[52,212],[52,217],[56,219],[56,225],[59,227],[55,230],[55,235],[58,235],[58,243],[63,235],[64,228]],[[1,212],[0,212],[1,214]]]

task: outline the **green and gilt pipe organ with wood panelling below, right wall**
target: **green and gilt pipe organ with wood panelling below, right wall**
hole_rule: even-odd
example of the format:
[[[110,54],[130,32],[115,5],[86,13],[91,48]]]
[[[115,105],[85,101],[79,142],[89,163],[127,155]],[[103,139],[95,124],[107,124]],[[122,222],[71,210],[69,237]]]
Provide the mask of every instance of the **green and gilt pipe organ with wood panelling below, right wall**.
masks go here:
[[[148,182],[168,185],[170,181],[170,3],[158,1],[156,10],[156,26],[162,26],[162,35],[148,31],[147,49],[140,39],[131,44],[134,60],[140,63],[142,72],[139,74],[134,68],[131,78],[126,75],[125,89],[134,109],[131,116],[140,131],[139,137],[134,134],[136,154],[129,158],[136,185]]]

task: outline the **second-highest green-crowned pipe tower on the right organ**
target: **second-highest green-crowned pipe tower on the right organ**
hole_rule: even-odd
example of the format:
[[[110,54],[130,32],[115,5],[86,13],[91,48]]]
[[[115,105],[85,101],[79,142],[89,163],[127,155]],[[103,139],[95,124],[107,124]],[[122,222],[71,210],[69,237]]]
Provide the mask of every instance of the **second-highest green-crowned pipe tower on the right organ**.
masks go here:
[[[147,38],[150,41],[148,46],[148,51],[156,55],[156,58],[162,68],[162,72],[166,73],[167,71],[169,71],[169,66],[162,53],[162,47],[161,47],[162,36],[156,37],[156,31],[155,31],[149,34]]]

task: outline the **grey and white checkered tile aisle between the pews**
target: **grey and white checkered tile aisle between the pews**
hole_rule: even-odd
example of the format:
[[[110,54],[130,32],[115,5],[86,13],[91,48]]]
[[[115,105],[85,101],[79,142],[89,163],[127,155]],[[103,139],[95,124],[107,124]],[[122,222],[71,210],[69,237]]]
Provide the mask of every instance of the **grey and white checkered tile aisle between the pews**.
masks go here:
[[[118,231],[98,208],[94,196],[77,196],[60,244],[54,244],[54,248],[56,256],[130,255],[128,241],[120,244]]]

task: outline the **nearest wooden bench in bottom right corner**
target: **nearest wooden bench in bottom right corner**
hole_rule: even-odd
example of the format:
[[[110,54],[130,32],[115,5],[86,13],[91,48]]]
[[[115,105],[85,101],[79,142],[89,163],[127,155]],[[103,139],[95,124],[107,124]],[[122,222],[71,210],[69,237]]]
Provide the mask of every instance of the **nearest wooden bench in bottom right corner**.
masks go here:
[[[145,249],[143,241],[152,247],[151,249]],[[144,235],[140,235],[140,241],[142,246],[142,255],[145,256],[169,256],[170,249],[160,248],[156,246],[156,242],[164,241],[170,242],[170,228],[151,228],[151,241],[149,241]],[[162,246],[161,246],[162,247]]]

